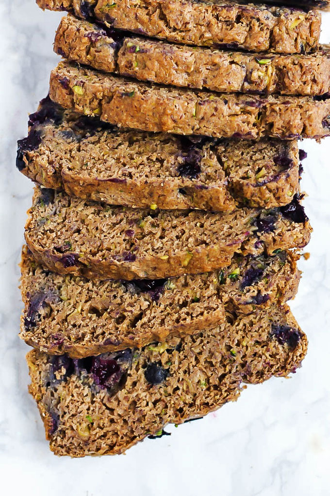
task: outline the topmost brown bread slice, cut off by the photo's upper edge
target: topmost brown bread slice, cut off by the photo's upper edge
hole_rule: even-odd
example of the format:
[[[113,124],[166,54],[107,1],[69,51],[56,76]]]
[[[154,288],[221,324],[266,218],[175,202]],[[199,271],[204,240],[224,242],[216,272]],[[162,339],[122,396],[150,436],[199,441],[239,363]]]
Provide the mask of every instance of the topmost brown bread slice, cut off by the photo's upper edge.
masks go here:
[[[108,27],[188,45],[284,54],[316,48],[321,14],[297,8],[191,0],[37,0]]]

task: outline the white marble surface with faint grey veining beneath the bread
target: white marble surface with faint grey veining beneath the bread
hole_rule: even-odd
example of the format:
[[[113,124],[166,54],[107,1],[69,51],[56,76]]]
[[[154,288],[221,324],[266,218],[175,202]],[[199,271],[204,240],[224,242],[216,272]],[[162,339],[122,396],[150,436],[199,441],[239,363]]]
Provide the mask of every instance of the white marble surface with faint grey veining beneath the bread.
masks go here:
[[[330,495],[330,139],[306,141],[302,186],[314,227],[291,308],[309,337],[303,367],[289,379],[249,386],[237,403],[207,418],[170,427],[127,455],[71,460],[48,451],[27,392],[25,354],[17,337],[20,248],[32,185],[15,170],[16,139],[47,94],[54,30],[60,14],[33,0],[0,2],[1,258],[0,474],[4,495],[324,496]],[[327,36],[328,33],[328,36]],[[328,38],[328,40],[327,40]],[[330,38],[324,15],[323,41]]]

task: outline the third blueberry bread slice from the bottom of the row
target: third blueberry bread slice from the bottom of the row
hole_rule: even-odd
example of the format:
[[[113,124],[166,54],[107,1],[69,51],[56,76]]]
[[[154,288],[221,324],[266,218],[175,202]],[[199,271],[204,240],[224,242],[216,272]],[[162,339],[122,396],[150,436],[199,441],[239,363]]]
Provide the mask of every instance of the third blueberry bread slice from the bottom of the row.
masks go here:
[[[234,253],[302,248],[311,227],[297,196],[230,213],[113,207],[36,187],[25,240],[44,267],[98,279],[160,279],[230,265]]]

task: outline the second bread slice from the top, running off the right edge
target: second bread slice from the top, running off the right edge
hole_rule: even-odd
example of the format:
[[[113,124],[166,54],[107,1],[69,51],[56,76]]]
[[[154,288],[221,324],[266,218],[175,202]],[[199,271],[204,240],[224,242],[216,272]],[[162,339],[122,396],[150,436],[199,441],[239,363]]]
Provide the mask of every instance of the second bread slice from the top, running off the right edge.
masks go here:
[[[141,81],[220,92],[323,95],[330,90],[330,52],[272,55],[114,38],[96,24],[63,17],[54,50],[74,62]]]

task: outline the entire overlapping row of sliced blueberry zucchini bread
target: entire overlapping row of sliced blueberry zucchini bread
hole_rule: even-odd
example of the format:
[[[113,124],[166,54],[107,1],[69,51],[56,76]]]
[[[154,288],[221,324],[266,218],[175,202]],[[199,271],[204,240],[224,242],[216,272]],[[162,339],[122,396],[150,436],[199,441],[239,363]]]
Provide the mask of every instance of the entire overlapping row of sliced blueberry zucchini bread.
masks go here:
[[[121,453],[300,367],[298,140],[330,134],[329,3],[37,3],[68,14],[18,141],[30,392],[56,454]]]

